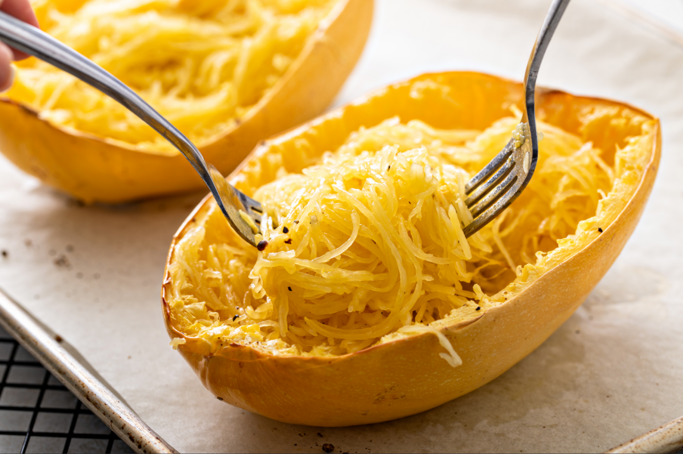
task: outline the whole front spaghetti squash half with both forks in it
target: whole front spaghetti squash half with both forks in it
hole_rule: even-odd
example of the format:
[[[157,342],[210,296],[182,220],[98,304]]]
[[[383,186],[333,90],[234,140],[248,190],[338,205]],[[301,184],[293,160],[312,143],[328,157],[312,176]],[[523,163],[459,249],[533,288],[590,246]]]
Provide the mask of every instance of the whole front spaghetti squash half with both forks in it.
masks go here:
[[[632,200],[658,156],[649,115],[541,96],[531,183],[465,239],[464,184],[510,140],[520,94],[481,74],[422,76],[257,149],[233,182],[268,212],[267,244],[242,241],[212,199],[200,205],[169,253],[173,348],[221,399],[313,425],[426,410],[504,372],[607,270],[632,228],[617,220],[642,208],[644,195]]]

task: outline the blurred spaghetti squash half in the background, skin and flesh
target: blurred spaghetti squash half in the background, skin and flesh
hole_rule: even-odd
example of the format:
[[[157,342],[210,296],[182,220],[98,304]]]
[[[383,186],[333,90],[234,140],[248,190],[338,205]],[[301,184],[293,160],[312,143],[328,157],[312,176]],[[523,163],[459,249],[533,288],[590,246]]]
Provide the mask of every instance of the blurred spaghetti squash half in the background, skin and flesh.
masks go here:
[[[44,31],[122,80],[227,173],[317,115],[363,48],[371,0],[36,0]],[[86,202],[201,187],[162,136],[32,58],[0,102],[0,149]]]

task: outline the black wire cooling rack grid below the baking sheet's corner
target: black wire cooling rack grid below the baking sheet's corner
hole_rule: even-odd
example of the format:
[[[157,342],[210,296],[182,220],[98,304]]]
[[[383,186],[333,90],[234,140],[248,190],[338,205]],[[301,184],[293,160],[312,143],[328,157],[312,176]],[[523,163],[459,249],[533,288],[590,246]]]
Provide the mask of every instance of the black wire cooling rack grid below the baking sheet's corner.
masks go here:
[[[133,453],[0,328],[0,453]]]

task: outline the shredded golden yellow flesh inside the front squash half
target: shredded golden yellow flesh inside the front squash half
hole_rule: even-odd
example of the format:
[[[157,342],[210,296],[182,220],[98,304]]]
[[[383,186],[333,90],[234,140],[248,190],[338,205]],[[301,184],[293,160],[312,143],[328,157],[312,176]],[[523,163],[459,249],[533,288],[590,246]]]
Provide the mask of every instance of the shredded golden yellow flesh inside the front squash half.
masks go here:
[[[413,82],[411,96],[439,87]],[[605,140],[610,149],[539,121],[531,183],[465,239],[471,215],[464,183],[512,137],[520,112],[507,106],[509,116],[484,130],[389,117],[352,132],[338,149],[308,159],[302,152],[292,158],[298,164],[277,153],[259,157],[261,164],[242,172],[270,165],[273,181],[250,185],[259,181],[255,175],[239,183],[270,215],[262,222],[264,249],[239,239],[210,200],[171,252],[171,325],[216,349],[242,344],[324,357],[421,331],[443,337],[440,327],[514,297],[615,220],[641,181],[656,121],[596,104],[576,130],[633,133],[616,145]],[[298,149],[311,148],[305,137],[296,140]],[[459,365],[441,337],[441,356]],[[184,342],[178,337],[171,345]]]

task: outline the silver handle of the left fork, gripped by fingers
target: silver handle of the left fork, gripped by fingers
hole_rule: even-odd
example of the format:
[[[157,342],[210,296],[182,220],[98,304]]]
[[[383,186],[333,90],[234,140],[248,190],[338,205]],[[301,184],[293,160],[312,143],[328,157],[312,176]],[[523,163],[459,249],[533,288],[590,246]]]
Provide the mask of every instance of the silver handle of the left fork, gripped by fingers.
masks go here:
[[[126,84],[44,31],[4,12],[0,12],[0,41],[76,76],[122,104],[171,142],[187,158],[214,196],[218,198],[217,189],[211,180],[204,157],[197,147]]]

